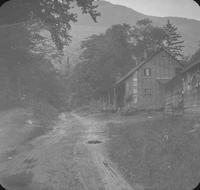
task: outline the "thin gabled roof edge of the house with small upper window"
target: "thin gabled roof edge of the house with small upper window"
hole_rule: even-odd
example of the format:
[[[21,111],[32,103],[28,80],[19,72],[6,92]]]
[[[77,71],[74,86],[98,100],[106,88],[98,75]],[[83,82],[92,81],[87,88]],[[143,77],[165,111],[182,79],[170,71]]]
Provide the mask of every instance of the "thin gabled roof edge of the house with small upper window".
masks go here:
[[[158,55],[161,52],[166,52],[170,57],[172,57],[178,64],[179,66],[182,67],[182,63],[181,61],[179,61],[178,59],[176,59],[171,52],[169,52],[168,50],[166,50],[164,47],[159,48],[158,51],[156,51],[153,55],[151,55],[150,57],[148,57],[146,60],[144,60],[142,63],[140,63],[139,65],[135,66],[131,71],[129,71],[126,75],[124,75],[118,82],[116,82],[115,85],[120,84],[121,82],[123,82],[124,80],[126,80],[127,78],[129,78],[132,74],[134,74],[138,69],[140,69],[144,64],[148,63],[149,61],[151,61],[156,55]]]

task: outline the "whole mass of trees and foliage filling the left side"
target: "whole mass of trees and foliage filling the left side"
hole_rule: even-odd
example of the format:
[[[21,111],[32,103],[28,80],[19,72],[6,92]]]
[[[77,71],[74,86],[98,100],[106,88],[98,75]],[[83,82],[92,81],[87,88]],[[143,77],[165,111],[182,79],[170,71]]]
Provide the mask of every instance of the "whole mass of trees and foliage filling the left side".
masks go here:
[[[72,0],[12,0],[1,6],[1,109],[32,107],[44,121],[68,109],[66,79],[55,63],[62,61],[71,23],[77,21],[73,5]],[[77,0],[76,6],[96,21],[93,0]]]

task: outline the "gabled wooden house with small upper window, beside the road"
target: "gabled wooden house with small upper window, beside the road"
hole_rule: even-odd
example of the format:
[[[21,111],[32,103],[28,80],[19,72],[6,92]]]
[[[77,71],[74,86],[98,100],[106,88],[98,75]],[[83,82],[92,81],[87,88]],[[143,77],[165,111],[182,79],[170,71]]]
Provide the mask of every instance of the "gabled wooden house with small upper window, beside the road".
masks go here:
[[[163,109],[165,85],[180,71],[181,64],[164,48],[137,64],[115,85],[117,108]]]

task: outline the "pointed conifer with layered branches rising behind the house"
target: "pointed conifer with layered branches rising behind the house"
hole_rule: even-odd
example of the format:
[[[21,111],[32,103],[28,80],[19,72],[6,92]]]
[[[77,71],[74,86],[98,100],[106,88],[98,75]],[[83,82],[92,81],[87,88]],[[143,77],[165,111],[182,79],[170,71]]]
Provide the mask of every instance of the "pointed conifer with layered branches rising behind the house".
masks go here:
[[[164,46],[169,50],[176,58],[183,58],[183,43],[182,36],[178,33],[178,28],[173,25],[170,20],[163,27],[166,32],[166,41]]]

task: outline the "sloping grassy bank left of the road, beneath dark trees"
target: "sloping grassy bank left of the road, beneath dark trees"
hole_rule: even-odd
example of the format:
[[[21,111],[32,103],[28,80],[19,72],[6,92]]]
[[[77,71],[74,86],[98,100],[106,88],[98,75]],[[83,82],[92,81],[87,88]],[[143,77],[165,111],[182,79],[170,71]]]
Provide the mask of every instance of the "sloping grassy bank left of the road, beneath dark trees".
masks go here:
[[[53,129],[57,112],[47,105],[0,112],[0,162],[14,157],[32,140]]]

